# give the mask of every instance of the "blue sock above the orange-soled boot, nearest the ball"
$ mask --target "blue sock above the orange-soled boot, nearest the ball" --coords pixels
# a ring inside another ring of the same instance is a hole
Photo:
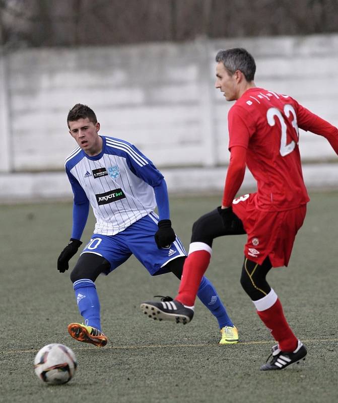
[[[101,330],[100,301],[94,282],[89,279],[77,280],[74,284],[75,298],[85,324]]]

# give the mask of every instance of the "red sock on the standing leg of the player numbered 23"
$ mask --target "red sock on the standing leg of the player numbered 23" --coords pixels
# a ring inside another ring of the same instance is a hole
[[[257,311],[258,316],[265,326],[271,331],[278,347],[282,351],[294,351],[297,348],[298,339],[293,334],[283,312],[279,299],[273,306],[264,311]]]

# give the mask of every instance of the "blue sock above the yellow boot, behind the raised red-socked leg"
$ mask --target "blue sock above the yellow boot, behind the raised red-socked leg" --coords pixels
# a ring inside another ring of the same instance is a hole
[[[215,287],[205,276],[202,277],[197,296],[201,300],[201,302],[204,303],[204,305],[210,310],[210,312],[214,316],[216,316],[220,329],[222,329],[222,327],[224,326],[234,325],[229,318],[225,306],[218,296]]]

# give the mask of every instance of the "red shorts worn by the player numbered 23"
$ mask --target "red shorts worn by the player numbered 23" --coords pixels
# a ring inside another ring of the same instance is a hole
[[[296,234],[304,222],[306,205],[268,212],[257,210],[255,198],[256,193],[245,194],[232,203],[232,210],[247,233],[244,254],[258,264],[268,256],[273,267],[287,266]]]

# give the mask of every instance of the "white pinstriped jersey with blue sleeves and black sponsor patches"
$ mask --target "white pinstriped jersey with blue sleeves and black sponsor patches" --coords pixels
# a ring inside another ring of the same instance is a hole
[[[132,144],[101,136],[102,151],[90,157],[77,147],[65,160],[74,204],[89,200],[96,224],[94,233],[115,235],[156,208],[154,186],[163,175]],[[88,202],[87,202],[88,203]]]

